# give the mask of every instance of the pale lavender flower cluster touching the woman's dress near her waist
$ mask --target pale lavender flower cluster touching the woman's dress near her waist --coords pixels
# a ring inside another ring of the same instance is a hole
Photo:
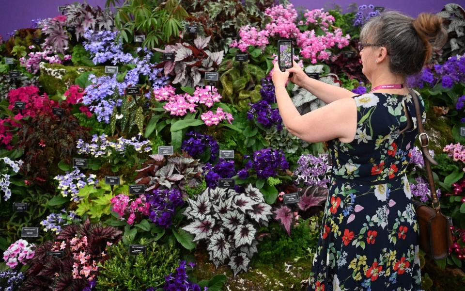
[[[294,175],[297,176],[296,183],[304,182],[309,186],[328,187],[331,175],[328,154],[318,154],[317,157],[310,154],[302,155],[297,163],[299,166],[294,171]]]

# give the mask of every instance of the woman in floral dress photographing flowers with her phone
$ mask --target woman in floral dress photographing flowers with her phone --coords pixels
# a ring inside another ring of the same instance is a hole
[[[386,12],[370,19],[359,50],[373,89],[361,96],[310,79],[295,62],[285,72],[275,64],[284,125],[305,141],[328,141],[332,160],[308,291],[421,289],[418,225],[405,176],[418,130],[405,79],[421,71],[446,37],[442,18],[431,14],[413,19]],[[327,105],[301,116],[285,89],[289,73]]]

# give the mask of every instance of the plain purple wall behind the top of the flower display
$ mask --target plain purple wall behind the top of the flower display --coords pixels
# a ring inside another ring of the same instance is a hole
[[[8,33],[19,28],[31,27],[31,20],[37,18],[54,17],[60,15],[58,6],[72,2],[83,2],[84,0],[1,0],[4,7],[0,9],[0,34],[7,39]],[[8,4],[6,3],[8,2]],[[87,0],[91,5],[105,6],[105,0]],[[310,1],[291,0],[295,7],[306,7],[309,9],[334,7],[340,5],[344,12],[355,0],[332,0],[332,1]],[[358,4],[373,4],[375,6],[386,6],[389,9],[398,10],[410,16],[417,16],[420,12],[439,12],[442,7],[450,2],[464,4],[464,0],[359,0]]]

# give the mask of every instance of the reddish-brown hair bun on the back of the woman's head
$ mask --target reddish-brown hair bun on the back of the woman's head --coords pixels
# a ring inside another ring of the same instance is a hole
[[[420,13],[413,27],[425,46],[424,64],[431,59],[433,49],[441,49],[447,41],[447,32],[442,26],[443,18],[430,13]]]

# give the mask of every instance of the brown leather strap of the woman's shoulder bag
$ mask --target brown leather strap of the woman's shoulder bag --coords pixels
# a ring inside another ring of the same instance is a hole
[[[426,174],[428,175],[428,183],[430,184],[431,189],[431,199],[433,201],[432,205],[436,212],[439,212],[440,204],[439,199],[437,199],[436,186],[434,185],[433,171],[431,170],[431,164],[437,165],[437,162],[434,161],[433,157],[428,151],[429,137],[426,134],[425,129],[423,129],[423,123],[421,119],[421,110],[420,104],[418,101],[418,96],[415,91],[411,88],[408,88],[410,95],[412,96],[413,103],[415,104],[415,113],[417,116],[417,128],[418,128],[418,139],[420,141],[421,152],[423,153],[423,160],[425,161]]]

